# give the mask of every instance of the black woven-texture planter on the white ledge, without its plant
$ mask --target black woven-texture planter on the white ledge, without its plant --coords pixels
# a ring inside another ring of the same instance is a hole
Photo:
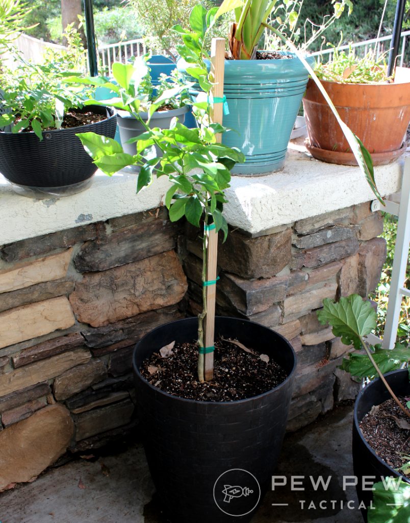
[[[27,187],[64,187],[90,178],[97,170],[76,133],[95,132],[114,138],[116,116],[112,109],[88,106],[107,115],[101,122],[71,129],[33,132],[0,132],[0,173],[13,184]]]

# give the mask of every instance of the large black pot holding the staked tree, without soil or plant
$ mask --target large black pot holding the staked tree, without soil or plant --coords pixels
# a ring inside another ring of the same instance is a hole
[[[144,359],[173,340],[197,339],[197,318],[151,331],[135,346],[134,379],[151,476],[173,523],[250,521],[270,487],[285,434],[296,357],[262,325],[217,317],[215,338],[235,337],[286,370],[275,389],[246,400],[203,402],[162,392],[140,374]],[[228,472],[229,471],[229,472]]]

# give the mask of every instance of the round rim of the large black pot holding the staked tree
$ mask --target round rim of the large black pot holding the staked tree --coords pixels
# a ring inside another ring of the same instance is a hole
[[[279,383],[279,385],[277,385],[274,389],[270,389],[266,392],[263,392],[262,394],[257,394],[256,396],[251,396],[251,397],[247,397],[247,398],[244,398],[242,400],[233,400],[233,401],[201,401],[201,400],[190,400],[188,398],[185,398],[185,397],[180,397],[180,396],[175,396],[174,394],[170,394],[169,392],[165,392],[165,391],[162,391],[160,389],[158,389],[156,386],[152,385],[151,383],[149,383],[145,378],[144,376],[142,376],[142,374],[140,373],[139,369],[137,368],[136,366],[136,363],[135,363],[135,352],[136,352],[136,348],[137,346],[144,340],[144,338],[146,336],[148,336],[151,332],[154,332],[154,331],[158,331],[159,329],[167,326],[167,325],[171,325],[173,323],[179,323],[179,322],[185,322],[185,321],[193,321],[193,320],[197,320],[197,317],[195,316],[191,316],[191,317],[188,317],[188,318],[181,318],[180,320],[174,320],[172,322],[168,322],[168,323],[165,323],[163,325],[159,325],[158,327],[156,327],[155,329],[153,329],[152,331],[149,331],[149,333],[147,333],[145,336],[143,336],[136,344],[135,344],[135,347],[134,347],[134,350],[133,350],[133,357],[132,357],[132,365],[133,365],[133,370],[134,370],[134,374],[136,376],[138,376],[139,380],[142,381],[144,383],[145,386],[148,386],[151,391],[157,393],[157,394],[161,394],[163,396],[167,396],[169,398],[172,398],[172,399],[175,399],[175,400],[179,400],[179,401],[184,401],[184,402],[188,402],[188,403],[197,403],[197,404],[201,404],[201,405],[232,405],[232,404],[240,404],[240,403],[245,403],[245,402],[249,402],[249,401],[253,401],[253,400],[256,400],[256,399],[260,399],[261,397],[263,396],[266,396],[267,394],[271,394],[273,391],[277,391],[279,390],[280,388],[282,388],[283,386],[285,386],[285,384],[291,379],[294,377],[294,374],[295,374],[295,371],[296,371],[296,353],[295,353],[295,349],[290,345],[290,342],[284,337],[282,336],[282,334],[279,334],[278,332],[276,331],[273,331],[273,329],[270,329],[269,327],[266,327],[265,325],[261,325],[260,323],[256,323],[256,322],[252,322],[252,321],[249,321],[249,320],[243,320],[241,318],[235,318],[235,317],[232,317],[232,316],[215,316],[215,319],[227,319],[227,320],[236,320],[238,322],[247,322],[249,324],[253,324],[253,325],[257,325],[259,327],[262,327],[264,329],[268,329],[272,332],[274,332],[277,336],[279,336],[279,338],[282,338],[285,342],[286,342],[286,345],[288,346],[288,348],[291,350],[291,353],[294,357],[294,365],[292,367],[292,370],[289,372],[288,376],[286,377],[286,379],[282,382],[282,383]]]

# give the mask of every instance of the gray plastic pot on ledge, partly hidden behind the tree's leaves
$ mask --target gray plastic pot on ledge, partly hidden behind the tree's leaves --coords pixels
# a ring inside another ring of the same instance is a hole
[[[154,112],[149,122],[149,127],[159,127],[160,129],[169,129],[172,118],[177,117],[180,123],[184,123],[185,114],[189,111],[188,106],[179,107],[178,109],[172,109],[169,111],[156,111]],[[140,117],[144,120],[148,120],[147,112],[140,112]],[[120,129],[120,137],[122,147],[125,153],[136,154],[137,145],[136,143],[126,143],[131,138],[136,138],[139,134],[145,132],[145,128],[141,122],[130,115],[127,111],[118,111],[117,123]],[[160,155],[160,151],[157,148],[157,153]]]

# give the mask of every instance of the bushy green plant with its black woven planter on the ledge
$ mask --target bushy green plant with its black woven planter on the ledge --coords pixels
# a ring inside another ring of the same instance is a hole
[[[0,172],[24,195],[64,196],[88,187],[97,168],[76,134],[115,133],[114,111],[85,108],[90,91],[64,81],[84,56],[78,33],[69,28],[66,37],[66,53],[50,51],[42,64],[15,53],[14,67],[0,73]]]

